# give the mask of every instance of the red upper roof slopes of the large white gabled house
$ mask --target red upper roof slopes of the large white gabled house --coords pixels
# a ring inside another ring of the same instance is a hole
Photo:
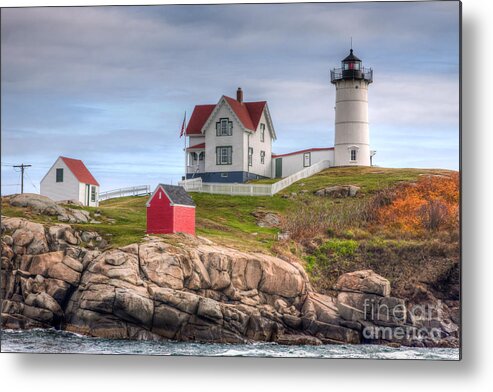
[[[257,129],[266,101],[260,102],[238,102],[236,99],[224,96],[228,105],[233,109],[238,119],[246,129],[255,131]],[[187,135],[200,134],[204,124],[213,112],[216,105],[195,106],[190,122],[187,126]]]

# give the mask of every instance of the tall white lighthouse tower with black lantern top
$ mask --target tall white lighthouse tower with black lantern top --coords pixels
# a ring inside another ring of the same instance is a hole
[[[370,166],[368,86],[373,71],[363,68],[351,49],[341,68],[330,71],[330,80],[336,86],[334,165]]]

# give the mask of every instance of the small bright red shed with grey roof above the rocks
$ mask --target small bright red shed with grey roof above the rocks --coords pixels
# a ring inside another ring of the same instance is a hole
[[[159,184],[147,202],[147,233],[195,235],[195,203],[181,186]]]

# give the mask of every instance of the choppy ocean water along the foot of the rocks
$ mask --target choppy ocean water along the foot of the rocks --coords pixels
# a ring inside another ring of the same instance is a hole
[[[451,348],[391,348],[381,345],[284,346],[274,343],[153,342],[92,338],[55,330],[2,330],[1,351],[210,357],[459,359],[459,349]]]

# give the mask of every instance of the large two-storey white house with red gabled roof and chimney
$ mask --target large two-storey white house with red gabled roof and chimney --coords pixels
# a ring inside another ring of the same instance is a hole
[[[195,106],[187,125],[187,178],[204,182],[245,182],[272,175],[276,139],[267,102],[222,96],[217,104]]]

